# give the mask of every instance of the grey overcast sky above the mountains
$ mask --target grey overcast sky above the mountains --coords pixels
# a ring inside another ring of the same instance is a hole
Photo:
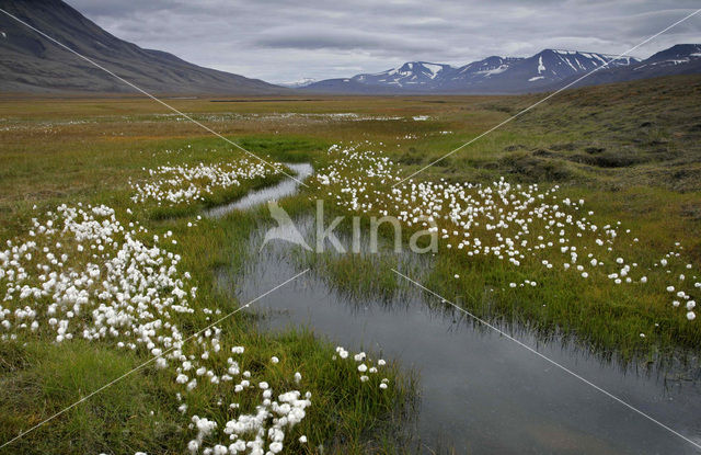
[[[619,55],[700,8],[699,0],[433,1],[68,0],[141,47],[271,82],[464,65],[543,48]],[[701,13],[636,49],[701,43]]]

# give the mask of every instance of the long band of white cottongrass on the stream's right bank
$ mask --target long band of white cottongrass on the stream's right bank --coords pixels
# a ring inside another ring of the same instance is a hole
[[[541,189],[503,178],[489,185],[445,179],[403,182],[400,169],[381,152],[361,148],[367,146],[331,146],[330,166],[314,177],[322,194],[352,212],[395,217],[406,227],[434,232],[443,248],[467,257],[493,258],[515,269],[529,261],[544,270],[575,272],[581,280],[606,278],[613,286],[650,285],[646,271],[658,269],[662,273],[656,282],[673,280],[667,291],[677,289],[678,299],[693,302],[701,288],[696,275],[687,280],[683,273],[674,272],[694,269],[683,261],[679,243],[648,268],[628,261],[622,253],[639,242],[630,229],[623,229],[621,221],[594,223],[594,212],[585,208],[585,201],[559,196],[558,185]],[[453,277],[460,280],[458,274]],[[524,284],[510,283],[509,287]],[[694,320],[693,305],[685,308],[687,320]]]

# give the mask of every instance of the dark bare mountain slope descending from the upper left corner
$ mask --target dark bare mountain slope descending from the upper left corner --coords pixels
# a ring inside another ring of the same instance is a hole
[[[267,94],[285,89],[143,49],[102,30],[60,0],[0,0],[0,8],[134,84],[159,93]],[[2,91],[133,92],[134,89],[0,13]]]

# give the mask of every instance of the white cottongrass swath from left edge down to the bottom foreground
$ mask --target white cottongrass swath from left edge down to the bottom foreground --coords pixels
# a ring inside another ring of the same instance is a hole
[[[281,453],[286,435],[304,419],[311,394],[292,388],[276,395],[264,377],[242,367],[245,346],[226,345],[217,326],[188,340],[183,322],[193,327],[196,311],[221,311],[195,309],[197,288],[180,269],[181,257],[161,246],[174,243],[172,236],[151,235],[104,205],[61,205],[42,220],[32,219],[28,239],[8,240],[0,250],[0,340],[48,335],[54,343],[66,343],[83,338],[148,353],[180,388],[177,411],[194,434],[185,447],[189,453]],[[230,354],[222,362],[225,353]],[[269,357],[272,367],[279,363],[278,356]],[[290,379],[302,384],[299,372]],[[221,428],[192,413],[200,389],[235,397],[217,400],[230,416]],[[243,402],[252,401],[257,403],[251,412],[241,411]],[[298,441],[307,443],[307,436]]]

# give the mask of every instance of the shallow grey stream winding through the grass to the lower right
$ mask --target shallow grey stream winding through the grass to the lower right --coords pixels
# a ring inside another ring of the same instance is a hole
[[[311,167],[295,170],[303,178]],[[228,209],[292,194],[297,185],[284,181]],[[296,220],[306,239],[312,238],[312,221],[311,216]],[[218,277],[221,286],[237,289],[241,302],[306,268],[299,247],[275,240],[261,250],[267,227],[252,235],[243,275]],[[404,254],[402,261],[411,266],[425,259]],[[449,448],[475,454],[700,453],[583,380],[437,303],[418,292],[389,300],[354,297],[308,273],[256,302],[255,311],[266,314],[261,321],[265,330],[304,326],[346,349],[381,353],[403,368],[413,368],[421,398],[409,431],[426,453]],[[699,380],[623,369],[572,343],[543,342],[526,329],[510,330],[543,355],[701,444]]]

